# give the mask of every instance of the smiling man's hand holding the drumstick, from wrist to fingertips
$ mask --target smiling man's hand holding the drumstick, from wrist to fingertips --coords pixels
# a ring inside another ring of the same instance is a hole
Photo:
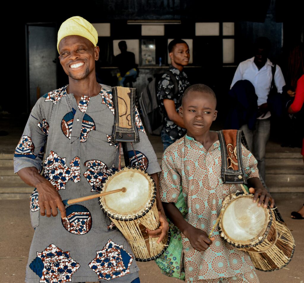
[[[58,191],[54,186],[46,179],[36,184],[38,191],[38,204],[40,206],[40,214],[45,215],[47,211],[47,217],[52,215],[55,217],[58,214],[57,207],[60,210],[61,218],[66,217],[66,211],[62,199]]]

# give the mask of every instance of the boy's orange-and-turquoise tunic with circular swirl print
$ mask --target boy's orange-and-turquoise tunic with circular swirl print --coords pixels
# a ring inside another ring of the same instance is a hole
[[[257,161],[242,146],[243,166],[248,178],[258,177]],[[219,141],[209,150],[193,138],[185,137],[170,145],[162,159],[160,177],[161,199],[176,202],[182,186],[188,207],[186,221],[209,235],[222,208],[222,201],[238,190],[238,185],[223,184],[221,179],[221,149]],[[213,232],[215,240],[204,252],[192,248],[182,235],[186,281],[228,278],[236,274],[248,282],[257,282],[248,253],[237,250]],[[247,282],[245,281],[245,282]]]

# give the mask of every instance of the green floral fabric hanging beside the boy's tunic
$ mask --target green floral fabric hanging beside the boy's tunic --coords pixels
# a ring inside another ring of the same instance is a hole
[[[175,206],[185,218],[188,209],[184,200],[183,193],[178,196]],[[164,254],[157,258],[156,264],[161,269],[161,273],[169,277],[175,277],[185,281],[185,269],[183,262],[183,243],[181,239],[181,231],[168,219],[169,229],[171,231],[171,240]]]

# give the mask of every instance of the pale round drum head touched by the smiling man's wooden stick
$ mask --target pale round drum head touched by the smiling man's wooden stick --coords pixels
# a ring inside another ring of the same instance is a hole
[[[154,183],[144,172],[124,168],[108,178],[103,192],[126,188],[126,192],[109,194],[100,198],[100,204],[111,215],[132,218],[151,206],[154,195]]]

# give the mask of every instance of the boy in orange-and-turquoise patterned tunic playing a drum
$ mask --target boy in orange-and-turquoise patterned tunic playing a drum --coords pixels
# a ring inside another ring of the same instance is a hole
[[[209,131],[216,119],[216,96],[208,86],[186,89],[179,115],[187,134],[164,152],[160,177],[161,198],[166,215],[182,232],[186,282],[259,282],[248,253],[224,242],[218,228],[208,239],[222,201],[239,187],[221,180],[221,149],[216,132]],[[242,146],[243,166],[254,202],[264,207],[270,199],[258,179],[257,161]],[[186,220],[175,207],[182,186],[188,207]],[[252,189],[251,189],[252,190]],[[274,201],[271,200],[271,207]]]

